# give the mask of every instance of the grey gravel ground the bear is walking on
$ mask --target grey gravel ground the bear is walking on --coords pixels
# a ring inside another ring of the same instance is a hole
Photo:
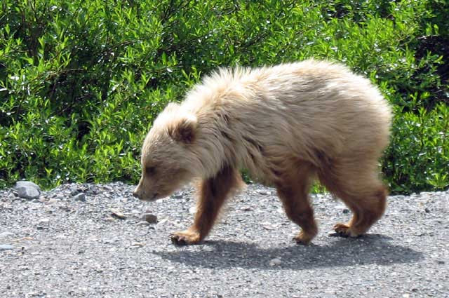
[[[356,239],[330,231],[351,217],[344,205],[313,196],[320,233],[303,246],[274,189],[250,185],[205,243],[175,247],[192,189],[156,203],[132,189],[65,184],[33,201],[0,191],[0,297],[449,297],[449,191],[391,196]],[[141,222],[145,212],[159,222]]]

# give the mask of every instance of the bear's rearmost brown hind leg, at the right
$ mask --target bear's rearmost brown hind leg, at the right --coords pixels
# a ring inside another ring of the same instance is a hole
[[[384,214],[387,189],[377,177],[377,165],[363,162],[334,164],[321,169],[319,180],[353,212],[347,224],[335,224],[341,236],[357,237],[365,233]]]

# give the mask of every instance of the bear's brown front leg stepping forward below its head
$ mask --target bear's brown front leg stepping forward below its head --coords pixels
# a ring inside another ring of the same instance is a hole
[[[176,245],[195,244],[206,238],[223,203],[243,185],[239,171],[228,167],[223,168],[215,177],[201,181],[197,187],[199,198],[194,224],[185,231],[173,233],[172,242]]]

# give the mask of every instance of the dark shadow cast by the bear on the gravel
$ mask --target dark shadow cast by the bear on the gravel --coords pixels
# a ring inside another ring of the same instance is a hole
[[[170,262],[189,266],[274,270],[370,264],[385,266],[418,262],[423,258],[422,252],[401,245],[391,245],[388,242],[390,239],[368,234],[356,239],[338,238],[324,246],[291,245],[286,248],[260,248],[251,243],[206,241],[202,245],[181,247],[175,252],[153,253]],[[280,262],[276,260],[273,264],[273,259],[279,259]]]

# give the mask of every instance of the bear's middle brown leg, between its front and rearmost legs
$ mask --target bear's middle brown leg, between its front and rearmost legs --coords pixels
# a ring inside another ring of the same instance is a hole
[[[288,218],[302,228],[293,239],[306,245],[318,233],[314,210],[309,203],[311,177],[314,177],[314,168],[311,165],[300,165],[283,173],[282,180],[276,183],[278,196]]]

